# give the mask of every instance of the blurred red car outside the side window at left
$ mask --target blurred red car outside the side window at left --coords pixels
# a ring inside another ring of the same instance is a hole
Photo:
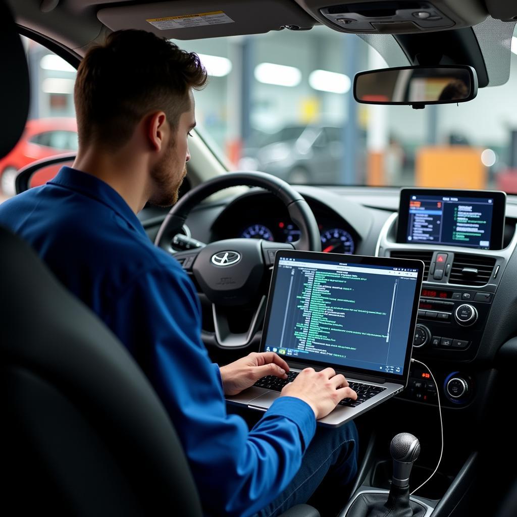
[[[0,186],[6,195],[14,195],[18,171],[41,158],[75,151],[78,147],[77,121],[72,117],[36,118],[28,120],[22,138],[12,151],[0,160]],[[31,179],[31,187],[52,179],[60,164],[45,167]]]

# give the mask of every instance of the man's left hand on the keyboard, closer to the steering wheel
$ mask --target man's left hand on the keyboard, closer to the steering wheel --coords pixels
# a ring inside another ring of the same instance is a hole
[[[219,371],[223,379],[224,394],[236,395],[253,386],[258,379],[266,375],[287,378],[286,372],[289,371],[289,367],[279,355],[273,352],[261,354],[252,352],[242,359],[222,366]]]

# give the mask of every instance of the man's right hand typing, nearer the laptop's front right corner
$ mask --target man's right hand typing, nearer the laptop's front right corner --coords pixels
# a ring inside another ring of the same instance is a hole
[[[313,368],[302,370],[292,383],[284,386],[280,396],[296,397],[307,402],[316,420],[326,417],[341,400],[357,399],[357,393],[348,387],[345,377],[336,375],[332,368],[325,368],[321,372]]]

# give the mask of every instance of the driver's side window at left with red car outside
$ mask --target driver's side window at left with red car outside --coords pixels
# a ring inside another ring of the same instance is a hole
[[[31,105],[18,145],[0,159],[0,202],[14,194],[18,171],[26,165],[78,148],[73,105],[75,69],[35,41],[22,37],[31,75]],[[53,178],[60,164],[45,168],[31,186]]]

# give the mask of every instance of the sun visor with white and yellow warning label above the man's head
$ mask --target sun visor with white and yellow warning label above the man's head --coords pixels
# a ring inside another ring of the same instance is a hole
[[[315,20],[290,0],[179,0],[143,5],[118,5],[97,12],[113,31],[143,29],[167,39],[201,39],[311,28]]]

